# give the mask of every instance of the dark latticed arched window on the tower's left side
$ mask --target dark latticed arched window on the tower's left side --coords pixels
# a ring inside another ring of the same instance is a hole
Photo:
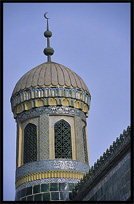
[[[37,127],[29,123],[24,129],[23,163],[37,161]]]

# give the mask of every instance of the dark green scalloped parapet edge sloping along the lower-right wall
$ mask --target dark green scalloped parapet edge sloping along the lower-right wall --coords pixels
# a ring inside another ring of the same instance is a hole
[[[82,190],[83,186],[91,183],[102,170],[105,172],[105,167],[109,165],[109,168],[112,169],[112,166],[110,166],[110,162],[113,160],[113,158],[116,157],[117,154],[125,149],[127,144],[130,143],[130,137],[131,127],[128,126],[127,130],[124,130],[123,134],[120,134],[120,136],[116,138],[116,141],[114,141],[113,144],[110,145],[110,147],[106,150],[106,152],[104,152],[103,155],[100,156],[99,159],[97,159],[94,165],[89,169],[89,172],[75,186],[72,194],[70,194],[70,200],[73,200],[76,195],[78,195],[78,193]]]

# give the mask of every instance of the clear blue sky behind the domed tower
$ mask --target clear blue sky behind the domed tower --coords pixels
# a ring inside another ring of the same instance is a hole
[[[10,97],[30,69],[52,61],[75,71],[91,93],[87,119],[90,165],[130,125],[130,3],[4,3],[3,196],[15,199],[16,123]]]

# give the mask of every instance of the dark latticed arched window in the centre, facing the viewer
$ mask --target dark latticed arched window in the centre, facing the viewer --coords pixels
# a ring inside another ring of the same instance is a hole
[[[65,120],[54,125],[55,158],[72,159],[71,127]]]

